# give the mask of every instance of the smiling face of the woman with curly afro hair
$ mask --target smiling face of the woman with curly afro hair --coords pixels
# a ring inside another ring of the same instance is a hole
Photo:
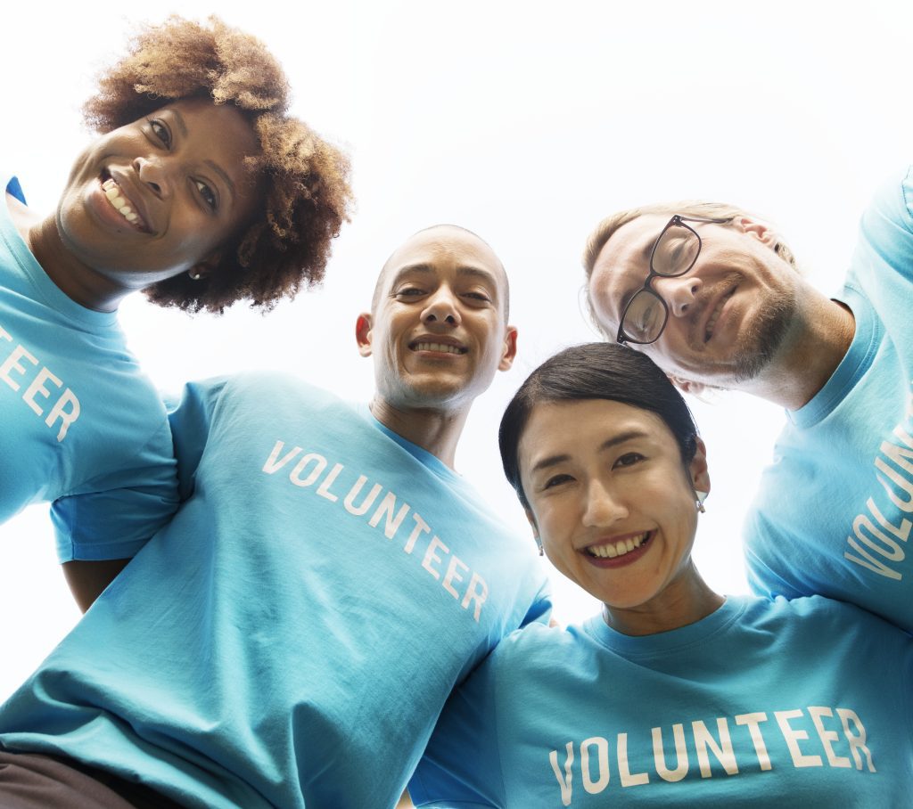
[[[175,101],[80,155],[57,212],[65,251],[127,290],[205,264],[260,194],[244,158],[257,137],[230,106]]]

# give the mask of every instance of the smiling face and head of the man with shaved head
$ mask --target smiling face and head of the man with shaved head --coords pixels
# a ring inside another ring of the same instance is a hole
[[[407,410],[470,404],[516,353],[507,295],[498,257],[477,236],[449,226],[416,233],[385,264],[373,312],[356,327],[378,395]]]

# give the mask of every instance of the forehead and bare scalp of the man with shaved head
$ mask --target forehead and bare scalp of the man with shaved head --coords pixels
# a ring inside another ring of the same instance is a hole
[[[441,226],[415,233],[383,265],[381,285],[388,288],[399,275],[414,269],[447,274],[477,271],[472,275],[479,279],[488,275],[498,293],[506,292],[507,275],[498,256],[477,236],[459,228]]]

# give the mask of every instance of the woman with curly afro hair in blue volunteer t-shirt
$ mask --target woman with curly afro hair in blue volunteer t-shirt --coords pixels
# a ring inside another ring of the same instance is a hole
[[[84,108],[99,137],[56,211],[0,177],[0,522],[54,502],[83,608],[177,506],[165,411],[121,299],[268,309],[320,280],[348,218],[348,161],[288,109],[257,39],[172,17],[100,77]]]

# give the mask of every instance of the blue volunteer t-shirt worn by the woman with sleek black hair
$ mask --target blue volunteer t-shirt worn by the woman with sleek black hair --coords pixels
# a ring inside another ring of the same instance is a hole
[[[913,639],[820,597],[630,637],[501,642],[447,703],[416,806],[873,807],[913,795]]]

